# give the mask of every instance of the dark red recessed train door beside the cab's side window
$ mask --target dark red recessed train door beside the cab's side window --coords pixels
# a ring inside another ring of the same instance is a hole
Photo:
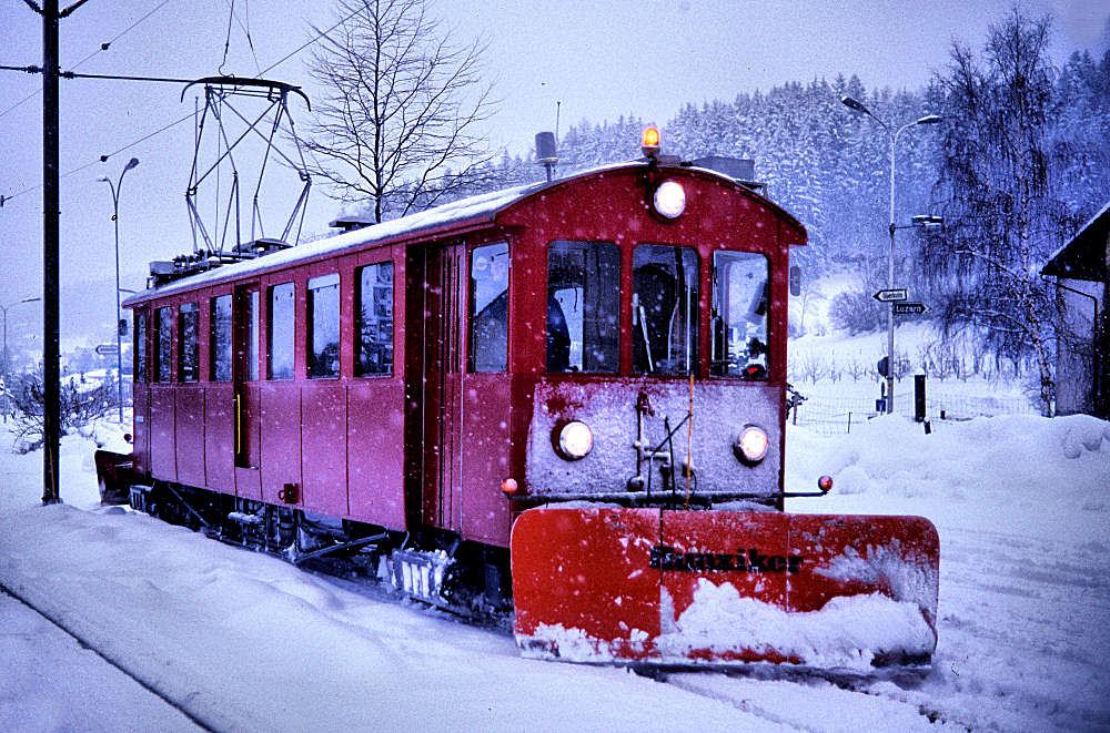
[[[462,245],[422,247],[412,257],[411,293],[421,298],[416,348],[407,349],[406,373],[417,377],[410,394],[420,396],[418,444],[411,449],[421,457],[421,521],[460,530],[462,450],[463,314],[465,248]]]

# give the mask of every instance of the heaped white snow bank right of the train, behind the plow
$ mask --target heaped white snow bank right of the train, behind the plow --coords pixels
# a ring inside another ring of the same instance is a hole
[[[1106,537],[1110,423],[1086,415],[1008,415],[952,423],[889,415],[850,435],[787,431],[786,486],[834,478],[833,493],[798,499],[803,512],[914,513],[947,527],[1039,538]]]

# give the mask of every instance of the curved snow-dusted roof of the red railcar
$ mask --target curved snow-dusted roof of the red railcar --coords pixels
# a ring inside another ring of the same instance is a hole
[[[574,181],[578,181],[585,177],[595,176],[598,174],[604,174],[610,171],[620,171],[628,169],[642,169],[646,167],[648,163],[646,161],[634,161],[629,163],[618,163],[605,165],[596,169],[591,169],[588,171],[583,171],[576,173],[572,176],[564,179],[556,179],[554,181],[543,181],[539,183],[531,183],[521,186],[514,186],[512,189],[503,189],[501,191],[495,191],[492,193],[478,194],[476,196],[470,196],[467,198],[461,198],[442,206],[436,206],[435,208],[428,208],[427,211],[418,212],[416,214],[410,214],[408,216],[403,216],[401,218],[395,218],[389,222],[382,222],[380,224],[372,224],[360,228],[354,228],[334,236],[325,237],[322,240],[316,240],[314,242],[307,242],[304,244],[299,244],[293,247],[281,250],[272,254],[266,254],[264,256],[255,257],[253,259],[246,259],[236,262],[234,264],[226,264],[223,266],[215,266],[211,269],[198,273],[195,275],[188,275],[175,279],[172,283],[162,285],[160,287],[148,288],[141,293],[137,293],[123,302],[123,306],[132,306],[144,301],[149,301],[162,295],[169,295],[173,293],[190,291],[196,287],[214,285],[230,279],[236,279],[240,277],[249,276],[252,274],[261,274],[263,272],[269,272],[272,269],[280,269],[282,267],[319,257],[321,255],[339,254],[346,250],[352,250],[355,247],[364,246],[367,244],[373,244],[376,242],[385,242],[389,240],[395,240],[402,236],[412,236],[418,234],[427,235],[442,235],[453,232],[465,232],[474,228],[480,228],[482,226],[490,225],[494,222],[497,214],[503,212],[505,208],[516,204],[529,196],[554,187],[562,186]],[[668,166],[669,167],[669,166]],[[759,198],[771,208],[774,208],[779,215],[794,222],[797,227],[805,231],[805,227],[798,223],[798,221],[791,216],[784,208],[771,202],[770,200],[755,193],[750,189],[743,185],[743,182],[737,181],[730,176],[724,175],[717,171],[692,166],[684,164],[680,170],[684,171],[696,171],[702,174],[709,174],[714,177],[737,184],[740,190],[748,192],[750,195]]]

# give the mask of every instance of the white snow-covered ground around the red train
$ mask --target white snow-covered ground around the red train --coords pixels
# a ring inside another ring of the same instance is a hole
[[[65,503],[41,507],[41,454],[0,446],[0,583],[215,730],[1110,730],[1110,424],[1093,418],[790,429],[787,485],[836,488],[789,509],[940,531],[932,671],[840,686],[524,660],[504,632],[102,508],[92,449],[63,440]],[[0,594],[0,729],[193,727]]]

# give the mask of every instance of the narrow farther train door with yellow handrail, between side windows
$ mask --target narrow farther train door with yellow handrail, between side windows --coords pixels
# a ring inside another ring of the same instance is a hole
[[[235,400],[235,491],[248,499],[262,498],[259,446],[259,337],[260,288],[258,283],[235,288],[234,359],[232,380]]]

